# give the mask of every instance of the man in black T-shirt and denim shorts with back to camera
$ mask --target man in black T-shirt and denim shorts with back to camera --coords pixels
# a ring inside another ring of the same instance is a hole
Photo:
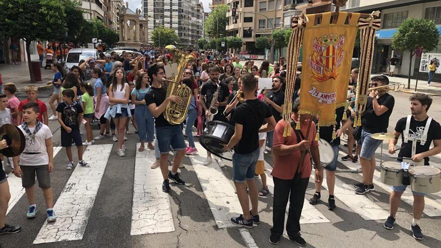
[[[253,223],[260,223],[257,210],[258,189],[254,178],[260,150],[259,132],[271,131],[276,126],[268,105],[257,99],[255,95],[257,86],[257,80],[251,73],[242,76],[242,88],[246,101],[236,107],[233,115],[235,132],[230,142],[224,144],[227,151],[236,147],[233,155],[233,181],[243,211],[239,217],[231,218],[231,222],[248,228],[252,228]],[[267,124],[262,125],[264,121]]]

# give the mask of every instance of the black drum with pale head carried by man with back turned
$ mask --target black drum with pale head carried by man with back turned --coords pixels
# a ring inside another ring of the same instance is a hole
[[[206,124],[199,138],[199,143],[213,155],[232,161],[234,152],[224,152],[223,144],[228,144],[233,134],[234,127],[232,125],[222,121],[210,121]]]

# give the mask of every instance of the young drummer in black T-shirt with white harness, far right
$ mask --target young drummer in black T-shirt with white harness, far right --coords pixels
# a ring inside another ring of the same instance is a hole
[[[438,122],[427,116],[427,111],[432,104],[432,99],[422,93],[416,93],[409,98],[410,112],[412,115],[403,117],[396,123],[393,135],[395,138],[389,140],[389,153],[395,153],[395,144],[401,136],[402,144],[398,153],[398,159],[411,158],[415,165],[429,165],[429,157],[441,152],[441,126]],[[433,141],[434,147],[430,149]],[[383,227],[393,229],[395,223],[395,215],[401,201],[401,195],[407,185],[392,186],[390,194],[390,216],[384,222]],[[413,220],[412,220],[412,236],[415,239],[423,238],[419,220],[424,209],[424,193],[413,193]]]

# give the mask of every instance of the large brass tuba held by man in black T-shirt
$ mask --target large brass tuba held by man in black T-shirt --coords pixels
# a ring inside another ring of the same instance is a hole
[[[178,63],[178,66],[177,73],[174,76],[174,79],[162,79],[162,82],[168,82],[166,98],[174,95],[182,98],[182,102],[168,103],[165,107],[164,118],[170,124],[178,125],[184,122],[185,117],[187,116],[188,107],[190,106],[191,97],[193,96],[193,92],[191,91],[191,89],[185,84],[181,83],[183,72],[187,64],[195,61],[195,59],[192,55],[179,51],[177,49],[171,49],[169,50],[169,52],[172,55],[171,63]]]

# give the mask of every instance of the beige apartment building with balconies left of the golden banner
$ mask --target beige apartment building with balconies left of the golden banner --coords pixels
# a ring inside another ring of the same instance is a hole
[[[243,51],[263,54],[264,51],[256,49],[256,38],[271,36],[273,30],[283,27],[283,3],[283,0],[226,0],[230,10],[237,9],[236,17],[232,17],[231,11],[227,13],[227,36],[241,37]]]

